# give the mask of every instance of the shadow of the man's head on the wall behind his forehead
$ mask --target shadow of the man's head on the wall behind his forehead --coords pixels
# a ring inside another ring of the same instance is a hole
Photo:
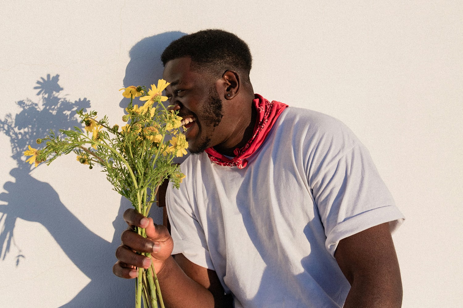
[[[124,87],[130,85],[145,85],[157,83],[161,79],[164,66],[161,54],[170,42],[186,35],[180,31],[164,32],[155,36],[145,37],[136,43],[129,51],[130,61],[125,68]],[[128,99],[122,99],[121,108],[127,107]]]

